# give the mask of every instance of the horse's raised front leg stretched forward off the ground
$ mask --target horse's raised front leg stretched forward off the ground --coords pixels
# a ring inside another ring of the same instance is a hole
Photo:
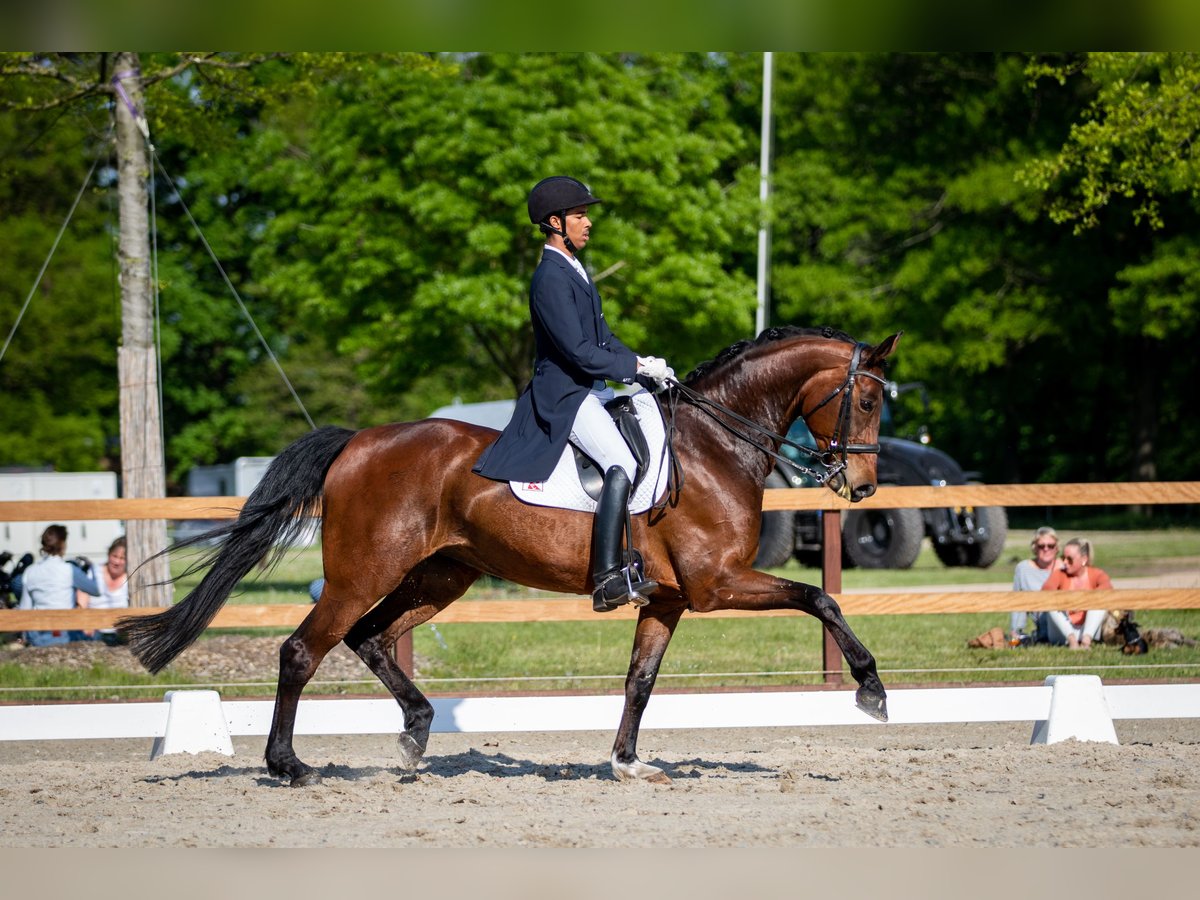
[[[858,682],[854,701],[858,708],[878,719],[888,720],[887,691],[875,667],[875,656],[863,646],[845,617],[838,601],[821,588],[746,569],[722,577],[703,589],[689,590],[696,612],[714,610],[799,610],[816,617],[833,635],[850,673]]]

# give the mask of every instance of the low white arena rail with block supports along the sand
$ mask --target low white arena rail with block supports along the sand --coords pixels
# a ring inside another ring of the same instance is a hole
[[[612,696],[433,700],[434,732],[612,731],[624,698]],[[224,701],[216,691],[168,691],[152,703],[0,707],[0,740],[152,738],[151,755],[232,754],[230,736],[266,734],[272,701]],[[1033,743],[1116,743],[1114,719],[1200,718],[1200,684],[1103,685],[1096,676],[1050,676],[1039,686],[899,689],[889,724],[1027,721]],[[656,694],[643,728],[884,725],[854,707],[850,690]],[[391,700],[304,700],[296,734],[403,731]]]

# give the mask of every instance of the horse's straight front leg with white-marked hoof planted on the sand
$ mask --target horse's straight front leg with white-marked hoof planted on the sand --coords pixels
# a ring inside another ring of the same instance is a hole
[[[629,661],[629,674],[625,676],[625,708],[612,745],[612,774],[622,781],[641,780],[668,785],[671,779],[662,769],[637,758],[637,732],[642,714],[650,701],[667,644],[671,643],[671,636],[684,611],[683,605],[667,610],[658,606],[643,606],[637,617],[634,653]]]

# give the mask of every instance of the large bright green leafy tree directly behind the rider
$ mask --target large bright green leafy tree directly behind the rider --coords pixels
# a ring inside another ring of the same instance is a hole
[[[523,388],[540,245],[524,198],[547,172],[606,200],[588,264],[623,340],[683,367],[748,334],[752,289],[732,260],[754,246],[754,148],[725,115],[719,64],[437,62],[332,79],[322,115],[280,110],[239,173],[259,210],[242,226],[259,235],[256,280],[361,359],[374,394],[432,377],[478,398]],[[416,414],[449,397],[433,400]]]

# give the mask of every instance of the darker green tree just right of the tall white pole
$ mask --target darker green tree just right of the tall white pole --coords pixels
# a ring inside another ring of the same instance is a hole
[[[1055,254],[1013,174],[1051,138],[1024,58],[776,56],[776,319],[871,340],[904,329],[935,439],[992,479],[1038,452],[1020,394],[1055,332]],[[1049,101],[1048,101],[1049,103]],[[782,112],[788,110],[788,112]],[[989,439],[980,439],[980,428]]]

